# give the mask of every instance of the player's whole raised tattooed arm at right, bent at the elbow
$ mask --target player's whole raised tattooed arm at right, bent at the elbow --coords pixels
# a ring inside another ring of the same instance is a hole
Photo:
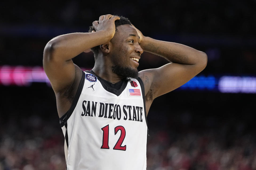
[[[135,29],[140,36],[140,45],[144,51],[170,61],[157,69],[139,72],[139,77],[145,85],[149,107],[156,97],[182,86],[206,67],[207,55],[204,52],[186,45],[144,37],[137,28]]]

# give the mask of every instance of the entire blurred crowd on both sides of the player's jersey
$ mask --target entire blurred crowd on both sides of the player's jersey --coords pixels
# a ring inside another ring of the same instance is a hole
[[[176,130],[149,131],[147,170],[256,169],[253,133]],[[36,116],[14,118],[2,122],[0,136],[0,170],[66,168],[64,136],[57,120],[45,121]]]

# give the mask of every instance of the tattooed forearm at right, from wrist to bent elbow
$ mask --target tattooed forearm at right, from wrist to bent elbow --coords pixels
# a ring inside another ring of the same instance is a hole
[[[164,57],[170,62],[188,65],[205,62],[205,60],[207,62],[205,53],[186,45],[154,40],[150,37],[144,37],[140,45],[144,51]]]

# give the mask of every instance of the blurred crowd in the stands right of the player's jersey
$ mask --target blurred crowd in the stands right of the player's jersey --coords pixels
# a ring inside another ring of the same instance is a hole
[[[147,144],[147,169],[154,170],[253,170],[256,146],[253,134],[233,138],[225,146],[219,131],[203,134],[155,132]],[[228,134],[227,134],[228,135]]]

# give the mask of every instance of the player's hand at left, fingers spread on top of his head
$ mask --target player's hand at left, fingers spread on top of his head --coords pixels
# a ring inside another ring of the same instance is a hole
[[[109,36],[111,40],[115,35],[115,20],[118,19],[120,19],[118,16],[113,16],[110,14],[101,15],[98,21],[93,22],[93,27],[96,31],[106,31],[106,35]]]

